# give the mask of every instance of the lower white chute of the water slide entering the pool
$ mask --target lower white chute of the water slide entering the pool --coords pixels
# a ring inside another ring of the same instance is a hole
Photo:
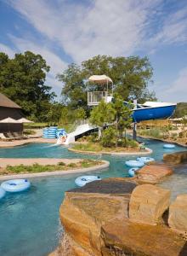
[[[89,124],[78,125],[76,131],[73,131],[67,135],[67,138],[64,144],[68,145],[70,143],[75,143],[77,136],[80,136],[88,131],[92,131],[96,128],[97,127],[94,127],[93,125],[89,125]]]

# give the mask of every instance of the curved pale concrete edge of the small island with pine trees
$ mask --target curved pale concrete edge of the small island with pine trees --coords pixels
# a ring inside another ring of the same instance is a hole
[[[80,153],[80,154],[111,154],[111,155],[147,155],[152,154],[153,150],[150,148],[145,148],[147,150],[146,152],[94,152],[94,151],[84,151],[84,150],[77,150],[73,148],[68,148],[69,151],[72,151],[74,153]]]

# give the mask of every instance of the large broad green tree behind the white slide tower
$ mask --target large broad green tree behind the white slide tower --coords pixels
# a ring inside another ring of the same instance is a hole
[[[97,55],[88,61],[82,61],[78,66],[72,63],[58,79],[64,86],[61,92],[63,102],[71,108],[82,107],[87,109],[87,83],[85,79],[93,74],[106,74],[114,82],[115,91],[122,96],[123,101],[138,99],[144,101],[150,93],[147,85],[153,74],[150,61],[147,57],[111,57]]]

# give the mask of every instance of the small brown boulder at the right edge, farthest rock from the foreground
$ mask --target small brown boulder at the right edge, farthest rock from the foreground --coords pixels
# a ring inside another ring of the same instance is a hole
[[[187,151],[163,154],[163,161],[167,164],[178,165],[187,160]]]

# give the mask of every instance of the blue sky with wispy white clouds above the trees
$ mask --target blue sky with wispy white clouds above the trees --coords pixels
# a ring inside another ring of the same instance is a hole
[[[0,0],[0,51],[26,50],[47,61],[58,96],[71,62],[146,55],[158,100],[187,102],[186,0]]]

